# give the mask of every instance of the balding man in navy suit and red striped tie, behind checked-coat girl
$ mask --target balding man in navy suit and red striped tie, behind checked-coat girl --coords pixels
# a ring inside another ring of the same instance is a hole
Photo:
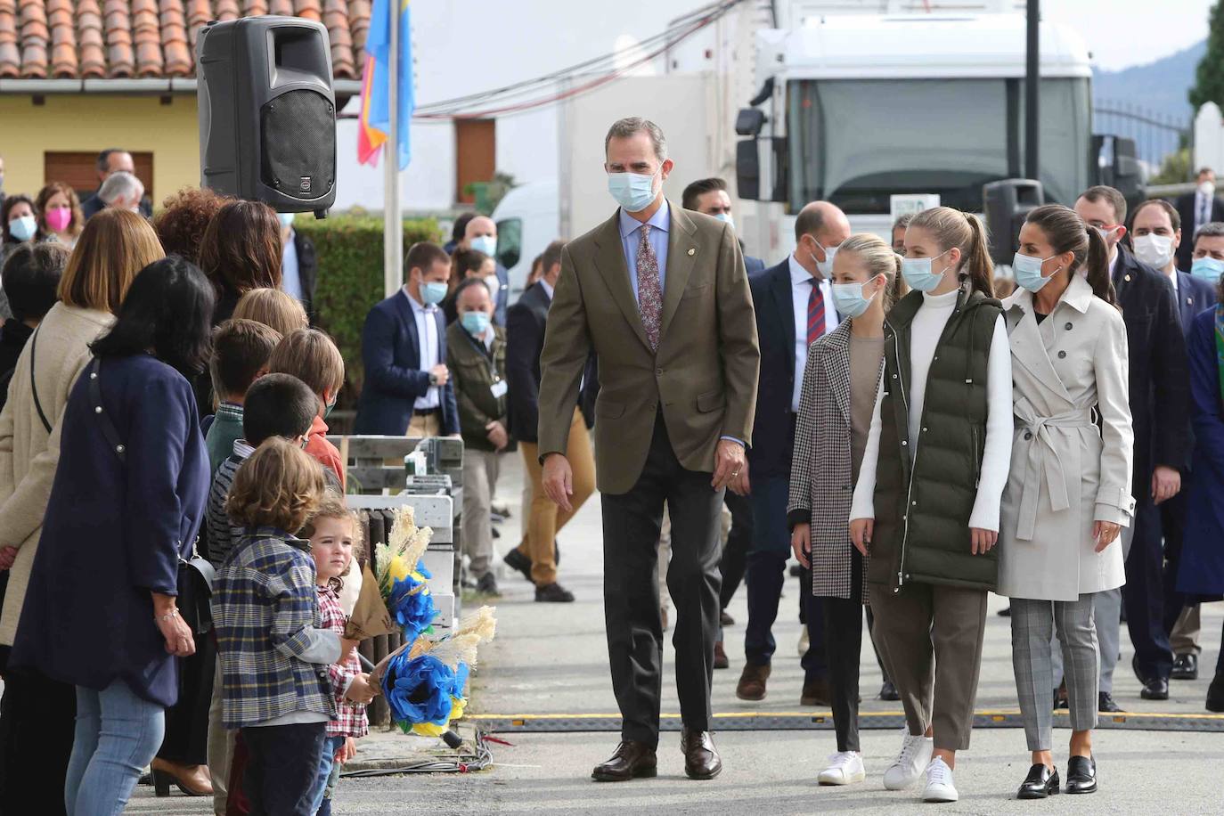
[[[750,488],[753,543],[748,553],[747,663],[736,688],[741,700],[764,700],[776,644],[771,631],[791,557],[786,502],[791,482],[796,414],[808,346],[837,328],[832,297],[834,252],[849,237],[846,214],[827,202],[804,207],[794,223],[796,248],[786,261],[753,275],[761,371],[753,447],[744,484]],[[805,599],[812,597],[810,591]],[[809,647],[803,658],[800,703],[829,700],[829,679],[818,603],[805,603]]]

